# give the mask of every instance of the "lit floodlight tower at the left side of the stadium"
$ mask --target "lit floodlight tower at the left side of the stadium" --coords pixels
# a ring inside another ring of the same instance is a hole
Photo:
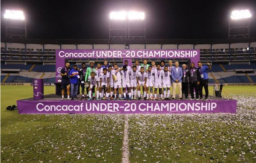
[[[27,38],[26,20],[23,11],[5,10],[5,37]]]

